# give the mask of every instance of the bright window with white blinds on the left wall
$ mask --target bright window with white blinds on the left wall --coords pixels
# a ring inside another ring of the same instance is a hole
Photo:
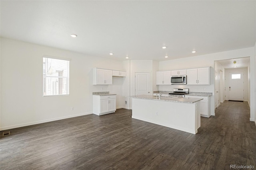
[[[43,57],[43,96],[69,95],[69,61]]]

